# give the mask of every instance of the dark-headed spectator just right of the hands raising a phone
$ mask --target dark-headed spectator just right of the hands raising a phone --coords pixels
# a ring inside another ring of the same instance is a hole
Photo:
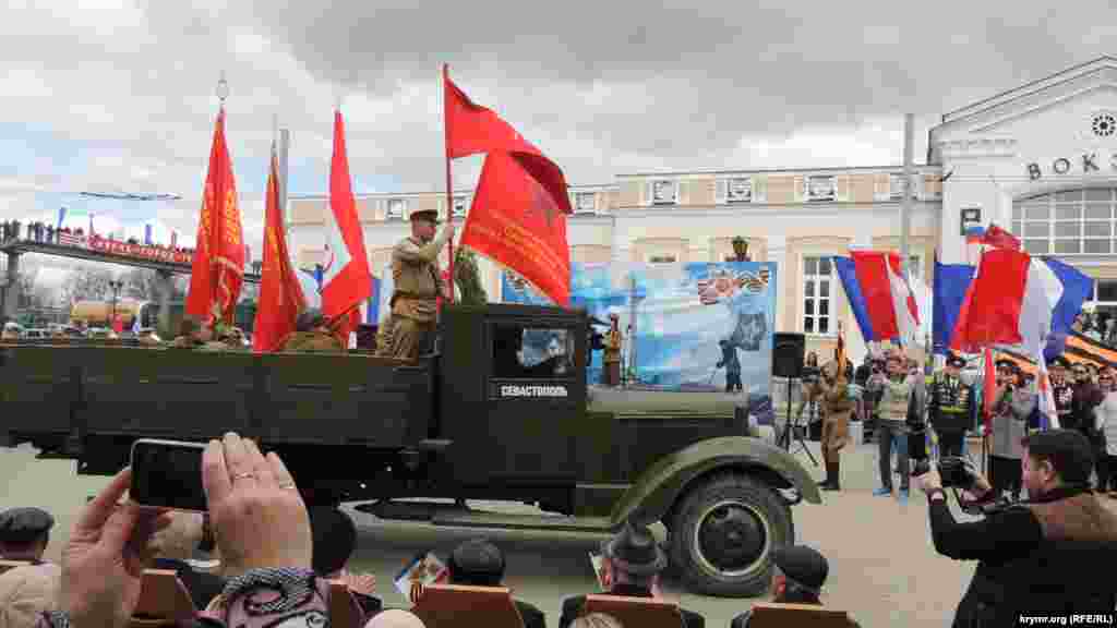
[[[345,563],[356,550],[353,520],[337,508],[314,508],[311,512],[311,533],[314,537],[314,573],[318,578],[345,582],[366,615],[380,612],[383,603],[373,596],[376,579],[371,574],[357,575],[345,570]]]

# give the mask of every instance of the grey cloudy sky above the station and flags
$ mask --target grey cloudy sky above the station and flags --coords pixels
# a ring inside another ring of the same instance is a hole
[[[332,107],[356,191],[441,190],[438,73],[496,108],[572,183],[693,168],[895,164],[903,114],[945,112],[1105,54],[1104,0],[905,2],[175,2],[9,0],[0,9],[0,217],[75,194],[104,228],[193,234],[217,114],[259,250],[273,116],[289,190],[326,189]],[[1047,6],[1044,6],[1047,4]],[[479,160],[456,165],[472,184]],[[192,237],[192,236],[191,236]]]

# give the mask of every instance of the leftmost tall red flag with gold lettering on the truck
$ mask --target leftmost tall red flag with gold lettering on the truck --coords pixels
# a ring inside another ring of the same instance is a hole
[[[211,320],[217,311],[220,320],[232,322],[245,276],[241,232],[237,182],[232,177],[232,161],[225,141],[222,108],[213,130],[209,174],[206,175],[206,190],[202,193],[190,291],[187,293],[187,314]]]

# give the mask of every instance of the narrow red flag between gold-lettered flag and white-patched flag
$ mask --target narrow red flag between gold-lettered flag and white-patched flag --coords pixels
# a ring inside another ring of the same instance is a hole
[[[287,236],[279,209],[279,161],[273,143],[265,209],[264,269],[260,273],[252,351],[276,351],[279,342],[295,331],[295,320],[305,308],[306,297],[287,253]]]

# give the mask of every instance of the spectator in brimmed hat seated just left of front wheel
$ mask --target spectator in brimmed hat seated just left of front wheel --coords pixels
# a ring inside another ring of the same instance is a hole
[[[604,594],[629,598],[658,598],[659,575],[667,568],[667,555],[656,543],[646,525],[628,522],[612,541],[601,548],[601,581]],[[585,596],[566,598],[562,602],[558,628],[569,628],[585,610]],[[697,612],[680,608],[685,628],[701,628],[706,620]]]

